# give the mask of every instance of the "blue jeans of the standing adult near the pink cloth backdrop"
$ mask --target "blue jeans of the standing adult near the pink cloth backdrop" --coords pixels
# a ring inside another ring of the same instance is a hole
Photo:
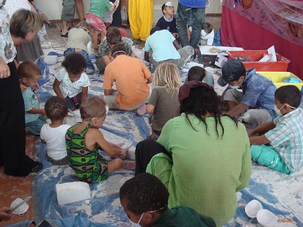
[[[190,40],[187,37],[187,23],[192,22],[192,32]],[[202,23],[205,21],[205,8],[190,8],[178,3],[177,8],[177,28],[182,47],[191,45],[196,48],[202,30]]]

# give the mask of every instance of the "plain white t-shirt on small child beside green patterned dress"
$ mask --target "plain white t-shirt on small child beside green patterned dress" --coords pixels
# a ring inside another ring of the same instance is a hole
[[[65,134],[70,127],[70,125],[61,125],[52,128],[49,124],[44,124],[41,128],[40,138],[46,142],[47,155],[56,161],[67,155]]]

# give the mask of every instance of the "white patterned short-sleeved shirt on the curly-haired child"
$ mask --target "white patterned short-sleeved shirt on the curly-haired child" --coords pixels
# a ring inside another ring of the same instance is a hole
[[[82,73],[79,80],[72,82],[65,68],[62,68],[57,72],[55,77],[61,82],[59,88],[64,98],[67,96],[72,98],[82,91],[82,87],[88,87],[90,85],[89,78],[86,73]]]

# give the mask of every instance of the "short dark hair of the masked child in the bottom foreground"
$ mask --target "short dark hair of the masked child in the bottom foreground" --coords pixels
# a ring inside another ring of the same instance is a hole
[[[126,199],[127,208],[136,215],[146,211],[167,210],[169,193],[154,175],[142,173],[126,181],[120,189],[120,200]]]

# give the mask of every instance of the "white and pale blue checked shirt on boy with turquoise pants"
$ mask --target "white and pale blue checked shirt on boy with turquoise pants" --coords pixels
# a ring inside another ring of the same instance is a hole
[[[292,172],[303,165],[303,112],[297,108],[274,120],[276,127],[265,136],[270,145],[284,159]]]

